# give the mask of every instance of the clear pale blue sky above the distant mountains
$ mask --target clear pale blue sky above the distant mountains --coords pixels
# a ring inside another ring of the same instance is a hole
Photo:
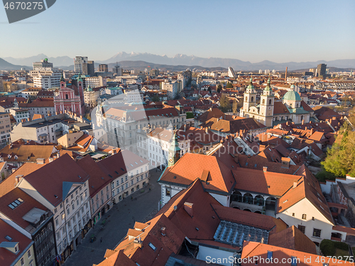
[[[355,58],[355,1],[57,0],[7,23],[0,8],[0,58],[131,51],[274,62]]]

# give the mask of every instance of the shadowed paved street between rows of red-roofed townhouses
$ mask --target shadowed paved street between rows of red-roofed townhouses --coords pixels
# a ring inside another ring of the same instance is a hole
[[[113,250],[124,238],[129,228],[133,228],[135,221],[145,221],[156,213],[160,200],[160,186],[157,181],[162,172],[156,172],[153,169],[150,173],[151,180],[144,193],[139,193],[139,191],[133,193],[133,200],[131,196],[124,198],[105,213],[97,225],[89,230],[82,243],[77,246],[77,250],[66,260],[65,266],[99,264],[104,260],[107,248]],[[104,229],[101,229],[103,220],[106,220],[106,225]],[[96,237],[96,240],[90,243],[92,235]]]

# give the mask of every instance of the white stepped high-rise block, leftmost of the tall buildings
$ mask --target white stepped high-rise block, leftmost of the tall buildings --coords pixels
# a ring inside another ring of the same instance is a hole
[[[62,72],[58,68],[53,68],[53,63],[49,63],[47,58],[40,60],[40,62],[34,62],[33,70],[30,71],[33,86],[43,89],[59,87],[60,75]]]

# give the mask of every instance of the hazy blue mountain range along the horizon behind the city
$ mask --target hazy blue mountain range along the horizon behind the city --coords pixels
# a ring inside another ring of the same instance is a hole
[[[60,56],[56,58],[50,58],[47,55],[39,54],[31,56],[29,58],[11,58],[6,57],[4,60],[13,65],[28,65],[32,66],[33,62],[39,61],[40,59],[48,58],[48,61],[53,63],[56,68],[62,69],[73,69],[73,58],[69,56]],[[90,58],[89,58],[90,59]],[[234,70],[285,70],[288,67],[288,70],[299,70],[299,69],[309,69],[316,68],[318,64],[325,63],[328,67],[334,68],[354,68],[355,69],[355,59],[342,59],[342,60],[332,60],[325,61],[319,60],[317,62],[288,62],[288,63],[275,63],[268,60],[263,60],[259,63],[251,63],[249,61],[242,61],[232,58],[200,58],[194,55],[182,55],[177,54],[172,58],[169,58],[167,55],[153,55],[151,53],[116,53],[107,60],[96,60],[95,66],[99,63],[106,63],[112,67],[116,62],[124,68],[138,68],[138,66],[146,68],[150,65],[152,68],[166,68],[169,70],[183,70],[183,68],[197,68],[197,69],[206,69],[211,68],[228,68],[233,67]],[[134,62],[134,63],[133,63]],[[142,63],[144,62],[144,63]],[[148,65],[146,65],[148,63]],[[162,67],[163,65],[163,67]],[[185,68],[185,69],[186,69]],[[0,63],[0,70],[6,69]],[[31,68],[27,68],[31,69]],[[216,69],[217,70],[217,69]]]

